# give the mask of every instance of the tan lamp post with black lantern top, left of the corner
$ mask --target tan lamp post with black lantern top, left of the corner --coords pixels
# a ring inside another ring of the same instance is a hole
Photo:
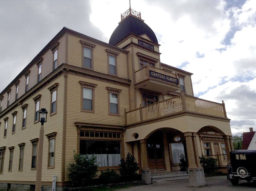
[[[40,128],[39,139],[38,139],[38,155],[37,155],[37,165],[36,165],[36,191],[41,190],[43,146],[44,146],[44,123],[46,122],[46,118],[47,118],[46,109],[45,108],[40,109],[39,119],[41,122],[41,128]]]

